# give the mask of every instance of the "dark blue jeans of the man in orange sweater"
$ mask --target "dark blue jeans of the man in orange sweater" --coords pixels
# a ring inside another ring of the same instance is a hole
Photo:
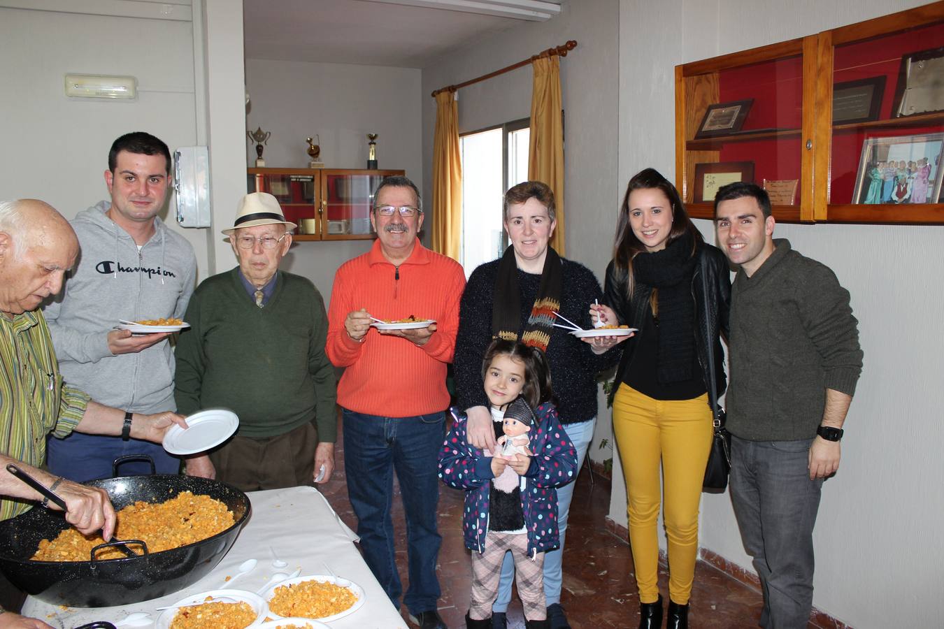
[[[443,538],[436,531],[437,458],[446,437],[443,413],[380,417],[344,409],[347,497],[357,516],[364,561],[399,609],[403,586],[396,571],[394,472],[407,521],[410,588],[403,604],[413,615],[436,609],[440,596],[436,559]]]

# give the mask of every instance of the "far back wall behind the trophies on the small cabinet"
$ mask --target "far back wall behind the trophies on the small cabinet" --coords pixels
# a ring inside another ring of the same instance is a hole
[[[420,71],[341,63],[245,60],[252,105],[246,128],[271,131],[262,157],[272,168],[306,168],[306,138],[320,136],[326,168],[365,168],[367,133],[378,133],[380,168],[405,170],[423,190]],[[431,133],[431,131],[430,131]],[[245,163],[256,144],[244,138]],[[312,279],[325,300],[334,272],[372,240],[298,241],[282,268]]]

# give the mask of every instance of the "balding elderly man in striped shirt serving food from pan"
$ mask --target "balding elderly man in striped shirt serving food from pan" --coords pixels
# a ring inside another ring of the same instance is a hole
[[[144,415],[103,406],[64,386],[39,307],[62,288],[62,277],[77,256],[76,232],[53,207],[35,199],[0,203],[0,467],[13,463],[54,488],[66,503],[66,521],[79,532],[100,529],[111,538],[115,512],[103,489],[39,469],[46,435],[64,437],[77,430],[160,443],[172,424],[187,424],[170,412]],[[0,520],[24,513],[41,499],[39,492],[0,471]],[[0,590],[7,604],[19,598],[8,584],[0,584]],[[0,610],[0,627],[7,626],[48,625]]]

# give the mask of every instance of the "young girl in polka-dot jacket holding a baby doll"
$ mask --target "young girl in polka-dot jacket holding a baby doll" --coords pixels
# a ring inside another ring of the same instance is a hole
[[[577,453],[550,404],[544,353],[496,339],[482,361],[485,394],[496,437],[515,445],[510,455],[490,453],[465,439],[465,415],[452,410],[452,429],[439,454],[439,477],[465,489],[463,531],[472,553],[472,597],[465,626],[490,629],[492,603],[505,553],[512,552],[526,626],[549,627],[544,596],[544,553],[556,548],[557,490],[577,474]]]

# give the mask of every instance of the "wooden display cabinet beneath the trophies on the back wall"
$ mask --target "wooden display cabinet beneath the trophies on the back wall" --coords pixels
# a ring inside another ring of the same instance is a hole
[[[385,176],[403,171],[250,168],[246,187],[269,192],[285,220],[298,225],[294,240],[369,240],[374,190]]]

